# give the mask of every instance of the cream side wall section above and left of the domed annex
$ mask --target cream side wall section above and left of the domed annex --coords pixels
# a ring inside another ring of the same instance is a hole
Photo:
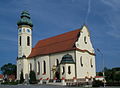
[[[56,59],[59,60],[59,63],[61,62],[62,60],[62,57],[66,54],[70,54],[72,55],[73,57],[73,60],[75,61],[75,58],[74,58],[74,51],[66,51],[66,52],[60,52],[60,53],[55,53],[55,54],[51,54],[50,55],[50,78],[53,79],[53,71],[52,71],[52,68],[54,65],[56,65]]]

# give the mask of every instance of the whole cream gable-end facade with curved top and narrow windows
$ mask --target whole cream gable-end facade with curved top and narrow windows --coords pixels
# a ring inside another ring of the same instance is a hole
[[[85,44],[84,37],[86,37]],[[88,50],[90,53],[94,53],[94,48],[90,40],[90,33],[86,26],[83,26],[80,32],[78,41],[76,42],[76,47],[81,50]],[[83,67],[81,67],[80,57],[82,56]],[[92,59],[93,68],[90,65],[90,59]],[[76,68],[77,68],[77,78],[94,77],[96,75],[95,67],[95,56],[89,54],[88,52],[76,51]]]

